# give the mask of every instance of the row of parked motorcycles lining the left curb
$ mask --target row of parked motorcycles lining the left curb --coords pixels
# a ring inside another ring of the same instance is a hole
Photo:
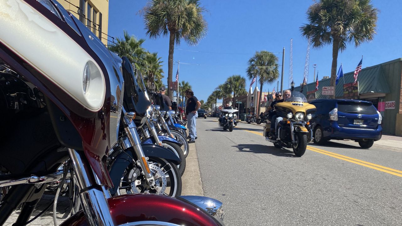
[[[55,0],[0,11],[0,226],[18,208],[13,225],[30,224],[45,192],[55,225],[59,195],[72,207],[63,226],[223,225],[221,202],[180,196],[183,117],[134,62]]]

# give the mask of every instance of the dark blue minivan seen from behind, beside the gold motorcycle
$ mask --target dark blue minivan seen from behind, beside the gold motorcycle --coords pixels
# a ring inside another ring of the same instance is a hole
[[[317,110],[312,118],[314,143],[328,140],[354,140],[370,148],[382,135],[382,116],[371,102],[318,99],[310,102]]]

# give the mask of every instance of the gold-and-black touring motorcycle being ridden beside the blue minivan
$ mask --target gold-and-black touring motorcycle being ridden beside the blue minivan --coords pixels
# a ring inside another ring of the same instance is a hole
[[[277,137],[268,135],[270,126],[267,123],[264,127],[265,139],[273,142],[275,148],[293,148],[295,155],[301,157],[306,152],[307,144],[312,141],[310,119],[316,107],[307,103],[301,92],[293,91],[289,99],[275,105],[275,111],[278,117],[283,117],[277,125]]]

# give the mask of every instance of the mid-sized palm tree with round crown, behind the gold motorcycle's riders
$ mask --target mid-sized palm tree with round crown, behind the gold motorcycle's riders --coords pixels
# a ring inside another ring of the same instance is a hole
[[[269,51],[256,51],[255,55],[248,60],[247,77],[250,79],[258,77],[258,82],[260,83],[260,96],[257,98],[258,101],[260,101],[261,95],[263,94],[263,84],[272,83],[279,77],[278,58]],[[259,115],[260,108],[258,107],[257,117]]]

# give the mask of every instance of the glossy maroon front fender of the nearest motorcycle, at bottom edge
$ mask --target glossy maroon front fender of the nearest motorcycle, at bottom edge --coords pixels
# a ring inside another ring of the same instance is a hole
[[[109,198],[108,203],[116,225],[138,221],[161,221],[185,226],[221,225],[194,205],[163,195],[120,195]],[[88,225],[82,211],[61,224],[61,226],[70,225]]]

